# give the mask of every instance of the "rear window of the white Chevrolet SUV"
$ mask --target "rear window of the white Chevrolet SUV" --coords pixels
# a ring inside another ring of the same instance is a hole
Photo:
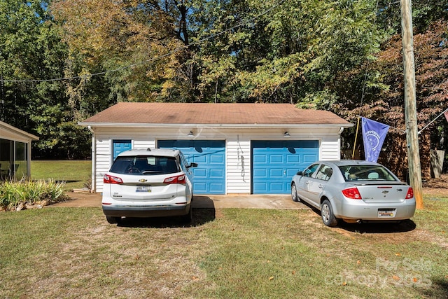
[[[116,158],[111,172],[116,174],[157,175],[179,172],[176,158],[155,156],[123,156]]]

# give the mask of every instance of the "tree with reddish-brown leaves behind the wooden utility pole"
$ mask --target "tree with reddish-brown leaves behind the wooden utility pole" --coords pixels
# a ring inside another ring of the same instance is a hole
[[[416,61],[416,99],[419,123],[419,144],[423,179],[430,176],[429,150],[440,146],[441,132],[447,134],[446,124],[440,119],[423,130],[444,109],[447,109],[448,48],[445,45],[447,21],[437,21],[426,32],[414,35]],[[355,82],[362,73],[353,72],[341,82]],[[384,142],[384,154],[379,162],[390,167],[402,179],[407,177],[407,144],[405,136],[405,117],[403,100],[402,46],[399,34],[384,43],[378,60],[370,64],[367,72],[367,92],[360,103],[356,97],[348,98],[345,104],[339,103],[337,110],[342,116],[356,123],[358,116],[372,118],[391,125]],[[352,85],[346,85],[352,88]],[[342,86],[340,87],[342,90]],[[340,109],[340,110],[339,110]],[[347,137],[354,139],[354,136]],[[431,141],[432,140],[432,141]],[[387,153],[393,153],[387,154]]]

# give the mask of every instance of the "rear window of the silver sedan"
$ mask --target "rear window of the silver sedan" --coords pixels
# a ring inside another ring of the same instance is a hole
[[[388,170],[379,165],[339,166],[346,181],[397,181]]]

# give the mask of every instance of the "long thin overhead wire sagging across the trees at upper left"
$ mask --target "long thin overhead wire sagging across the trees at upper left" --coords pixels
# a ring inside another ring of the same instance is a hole
[[[11,80],[8,80],[8,79],[3,79],[3,77],[2,77],[2,78],[0,78],[0,81],[1,82],[10,82],[10,83],[40,83],[40,82],[66,81],[66,80],[81,79],[81,78],[91,78],[93,76],[101,76],[101,75],[104,75],[104,74],[107,74],[107,73],[111,73],[111,72],[114,72],[114,71],[123,71],[125,69],[130,69],[132,67],[137,67],[138,65],[141,65],[141,64],[147,64],[147,63],[153,62],[155,60],[160,60],[162,58],[168,57],[169,55],[173,55],[174,53],[177,53],[177,52],[179,52],[179,51],[181,51],[183,49],[190,48],[191,46],[195,46],[195,45],[200,44],[200,43],[202,43],[204,41],[208,41],[209,39],[213,39],[216,36],[220,36],[222,34],[225,34],[226,32],[230,32],[230,31],[232,31],[234,29],[237,29],[239,27],[243,27],[244,25],[247,25],[248,23],[253,22],[254,20],[257,20],[258,18],[262,17],[263,15],[267,15],[267,13],[272,11],[274,8],[277,8],[278,6],[283,4],[284,1],[285,0],[279,1],[279,3],[277,3],[274,6],[268,8],[266,11],[263,11],[259,15],[255,15],[255,17],[250,18],[250,19],[246,20],[245,22],[241,22],[238,25],[235,25],[234,27],[230,27],[230,28],[225,29],[225,30],[223,30],[221,32],[218,32],[216,34],[211,34],[210,36],[204,37],[204,39],[200,39],[198,41],[195,41],[194,43],[190,43],[189,45],[175,48],[174,50],[171,50],[171,51],[169,51],[168,53],[166,53],[164,55],[156,56],[156,57],[153,57],[153,58],[151,58],[149,60],[144,60],[144,61],[141,61],[141,62],[130,64],[130,65],[127,65],[125,67],[119,67],[117,69],[109,69],[107,71],[101,71],[101,72],[94,73],[94,74],[80,75],[80,76],[71,76],[71,77],[64,77],[64,78],[32,79],[32,80],[18,80],[18,79],[15,80],[15,79],[11,79]]]

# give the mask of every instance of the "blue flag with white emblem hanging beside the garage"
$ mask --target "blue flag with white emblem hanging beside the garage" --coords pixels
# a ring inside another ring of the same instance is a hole
[[[388,125],[378,123],[377,121],[368,118],[362,119],[363,141],[365,160],[370,162],[377,162],[384,139],[386,139]]]

